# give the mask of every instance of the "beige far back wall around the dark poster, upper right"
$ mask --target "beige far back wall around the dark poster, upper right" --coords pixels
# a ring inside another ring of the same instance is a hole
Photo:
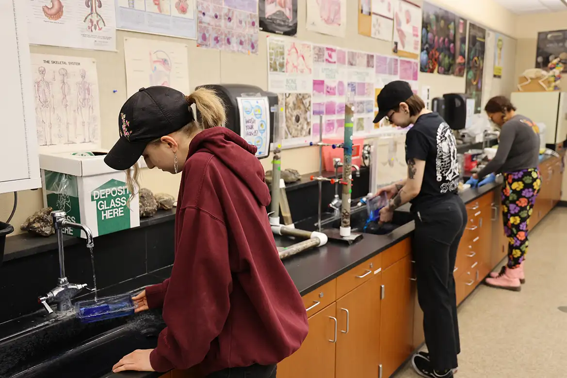
[[[515,35],[518,39],[516,77],[535,67],[538,32],[567,29],[567,12],[540,13],[518,16]],[[567,80],[561,80],[567,91]]]

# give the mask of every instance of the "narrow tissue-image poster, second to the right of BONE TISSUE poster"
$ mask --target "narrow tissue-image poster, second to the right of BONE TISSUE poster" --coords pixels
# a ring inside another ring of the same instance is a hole
[[[374,54],[348,50],[347,97],[354,101],[354,134],[374,129]],[[340,132],[340,131],[337,131]]]

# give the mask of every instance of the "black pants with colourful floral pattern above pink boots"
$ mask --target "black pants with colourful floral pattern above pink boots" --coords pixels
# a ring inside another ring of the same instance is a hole
[[[502,214],[508,237],[508,267],[518,267],[528,250],[528,225],[541,186],[537,168],[504,173]]]

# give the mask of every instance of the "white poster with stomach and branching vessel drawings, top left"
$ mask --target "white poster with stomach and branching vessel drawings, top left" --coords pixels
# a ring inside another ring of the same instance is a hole
[[[114,0],[27,0],[29,43],[116,50]]]

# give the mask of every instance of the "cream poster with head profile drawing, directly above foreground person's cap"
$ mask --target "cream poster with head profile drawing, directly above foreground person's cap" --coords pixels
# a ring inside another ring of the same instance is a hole
[[[124,60],[128,96],[151,86],[172,87],[185,94],[191,91],[185,44],[127,37]]]

